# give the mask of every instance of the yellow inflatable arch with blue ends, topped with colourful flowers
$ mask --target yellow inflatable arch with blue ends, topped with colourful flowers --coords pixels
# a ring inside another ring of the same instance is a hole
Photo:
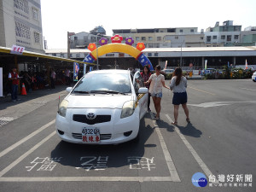
[[[97,57],[99,56],[113,52],[120,52],[131,55],[137,59],[137,61],[139,61],[143,67],[148,65],[150,70],[154,70],[151,62],[148,60],[148,57],[142,52],[142,50],[145,49],[145,45],[143,43],[138,43],[137,47],[135,48],[131,46],[134,44],[134,40],[132,38],[125,38],[125,44],[121,44],[122,40],[122,36],[115,35],[111,38],[112,44],[108,44],[107,38],[101,38],[99,44],[102,46],[97,50],[96,44],[89,44],[88,49],[91,52],[85,56],[84,62],[92,63],[93,61],[96,61]]]

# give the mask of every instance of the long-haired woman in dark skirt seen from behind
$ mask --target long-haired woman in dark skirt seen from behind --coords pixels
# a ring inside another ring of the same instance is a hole
[[[178,108],[181,104],[183,106],[184,113],[189,120],[189,108],[187,107],[188,96],[187,96],[187,79],[183,76],[183,71],[180,67],[177,67],[173,73],[173,77],[170,84],[170,89],[173,90],[172,104],[174,106],[174,119],[172,125],[177,125]]]

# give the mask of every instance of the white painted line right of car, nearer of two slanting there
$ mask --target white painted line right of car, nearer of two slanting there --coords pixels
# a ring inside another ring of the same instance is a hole
[[[164,152],[164,155],[165,155],[165,158],[166,158],[166,164],[167,164],[169,172],[171,174],[172,181],[173,182],[181,182],[181,180],[180,180],[180,178],[179,178],[179,176],[177,174],[176,167],[174,166],[171,154],[169,153],[168,148],[166,146],[166,142],[164,140],[164,137],[162,136],[162,134],[160,132],[159,126],[156,124],[156,122],[154,120],[154,115],[153,115],[152,112],[150,112],[150,115],[151,115],[151,119],[153,120],[154,130],[156,131],[156,133],[157,133],[157,135],[159,137],[160,145],[161,145],[161,147],[163,149],[163,152]]]

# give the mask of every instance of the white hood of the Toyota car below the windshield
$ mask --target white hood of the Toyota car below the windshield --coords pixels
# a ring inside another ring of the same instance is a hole
[[[67,108],[123,108],[131,101],[131,95],[69,95]]]

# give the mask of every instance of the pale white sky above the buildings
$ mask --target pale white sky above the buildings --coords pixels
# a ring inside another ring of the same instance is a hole
[[[198,27],[225,20],[256,26],[255,0],[41,0],[43,36],[48,49],[66,49],[67,32],[112,29]]]

